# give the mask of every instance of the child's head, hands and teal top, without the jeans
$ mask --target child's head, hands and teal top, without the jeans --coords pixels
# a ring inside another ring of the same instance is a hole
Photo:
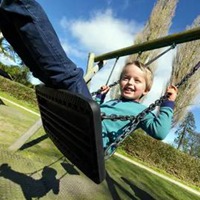
[[[129,115],[136,116],[146,107],[140,104],[140,99],[146,95],[152,86],[153,74],[151,70],[139,61],[127,63],[120,75],[121,98],[110,100],[101,104],[101,111],[107,115]],[[109,91],[108,86],[102,87],[101,96],[98,102],[102,102],[102,97]],[[168,87],[166,91],[169,95],[168,100],[163,102],[158,115],[150,112],[138,124],[137,128],[142,128],[153,138],[164,139],[170,128],[173,117],[174,101],[177,96],[175,86]],[[123,133],[123,128],[129,121],[102,121],[103,146],[109,146],[119,135]]]

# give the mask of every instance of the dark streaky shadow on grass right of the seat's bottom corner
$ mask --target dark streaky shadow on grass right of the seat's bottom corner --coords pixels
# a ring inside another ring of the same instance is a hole
[[[106,182],[108,185],[108,189],[111,193],[112,199],[115,200],[122,200],[123,198],[120,197],[119,195],[119,190],[120,193],[124,193],[128,199],[132,199],[132,200],[138,200],[138,199],[148,199],[148,200],[154,200],[154,198],[149,195],[147,192],[145,192],[144,190],[141,190],[140,188],[138,188],[136,185],[133,184],[133,182],[130,182],[128,179],[121,177],[121,179],[124,181],[124,185],[122,186],[122,184],[118,183],[117,181],[115,181],[109,174],[108,172],[106,172]],[[126,188],[127,185],[132,189],[133,193],[129,192]],[[118,190],[117,190],[118,188]]]

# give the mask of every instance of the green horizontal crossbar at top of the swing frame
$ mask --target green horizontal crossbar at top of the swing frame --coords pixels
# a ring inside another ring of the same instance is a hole
[[[166,37],[158,38],[142,44],[136,44],[122,48],[116,51],[108,52],[94,58],[94,62],[109,60],[116,57],[126,56],[134,53],[158,49],[161,47],[170,46],[172,44],[180,44],[200,39],[200,27],[175,33]]]

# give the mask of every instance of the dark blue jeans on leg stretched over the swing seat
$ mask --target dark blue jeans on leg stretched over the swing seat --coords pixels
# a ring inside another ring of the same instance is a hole
[[[0,30],[33,75],[49,87],[91,98],[83,70],[67,57],[35,0],[0,0]]]

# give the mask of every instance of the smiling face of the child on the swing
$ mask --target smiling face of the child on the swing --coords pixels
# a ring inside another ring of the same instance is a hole
[[[127,65],[120,80],[121,96],[126,99],[139,101],[142,95],[147,94],[145,72],[135,64]]]

